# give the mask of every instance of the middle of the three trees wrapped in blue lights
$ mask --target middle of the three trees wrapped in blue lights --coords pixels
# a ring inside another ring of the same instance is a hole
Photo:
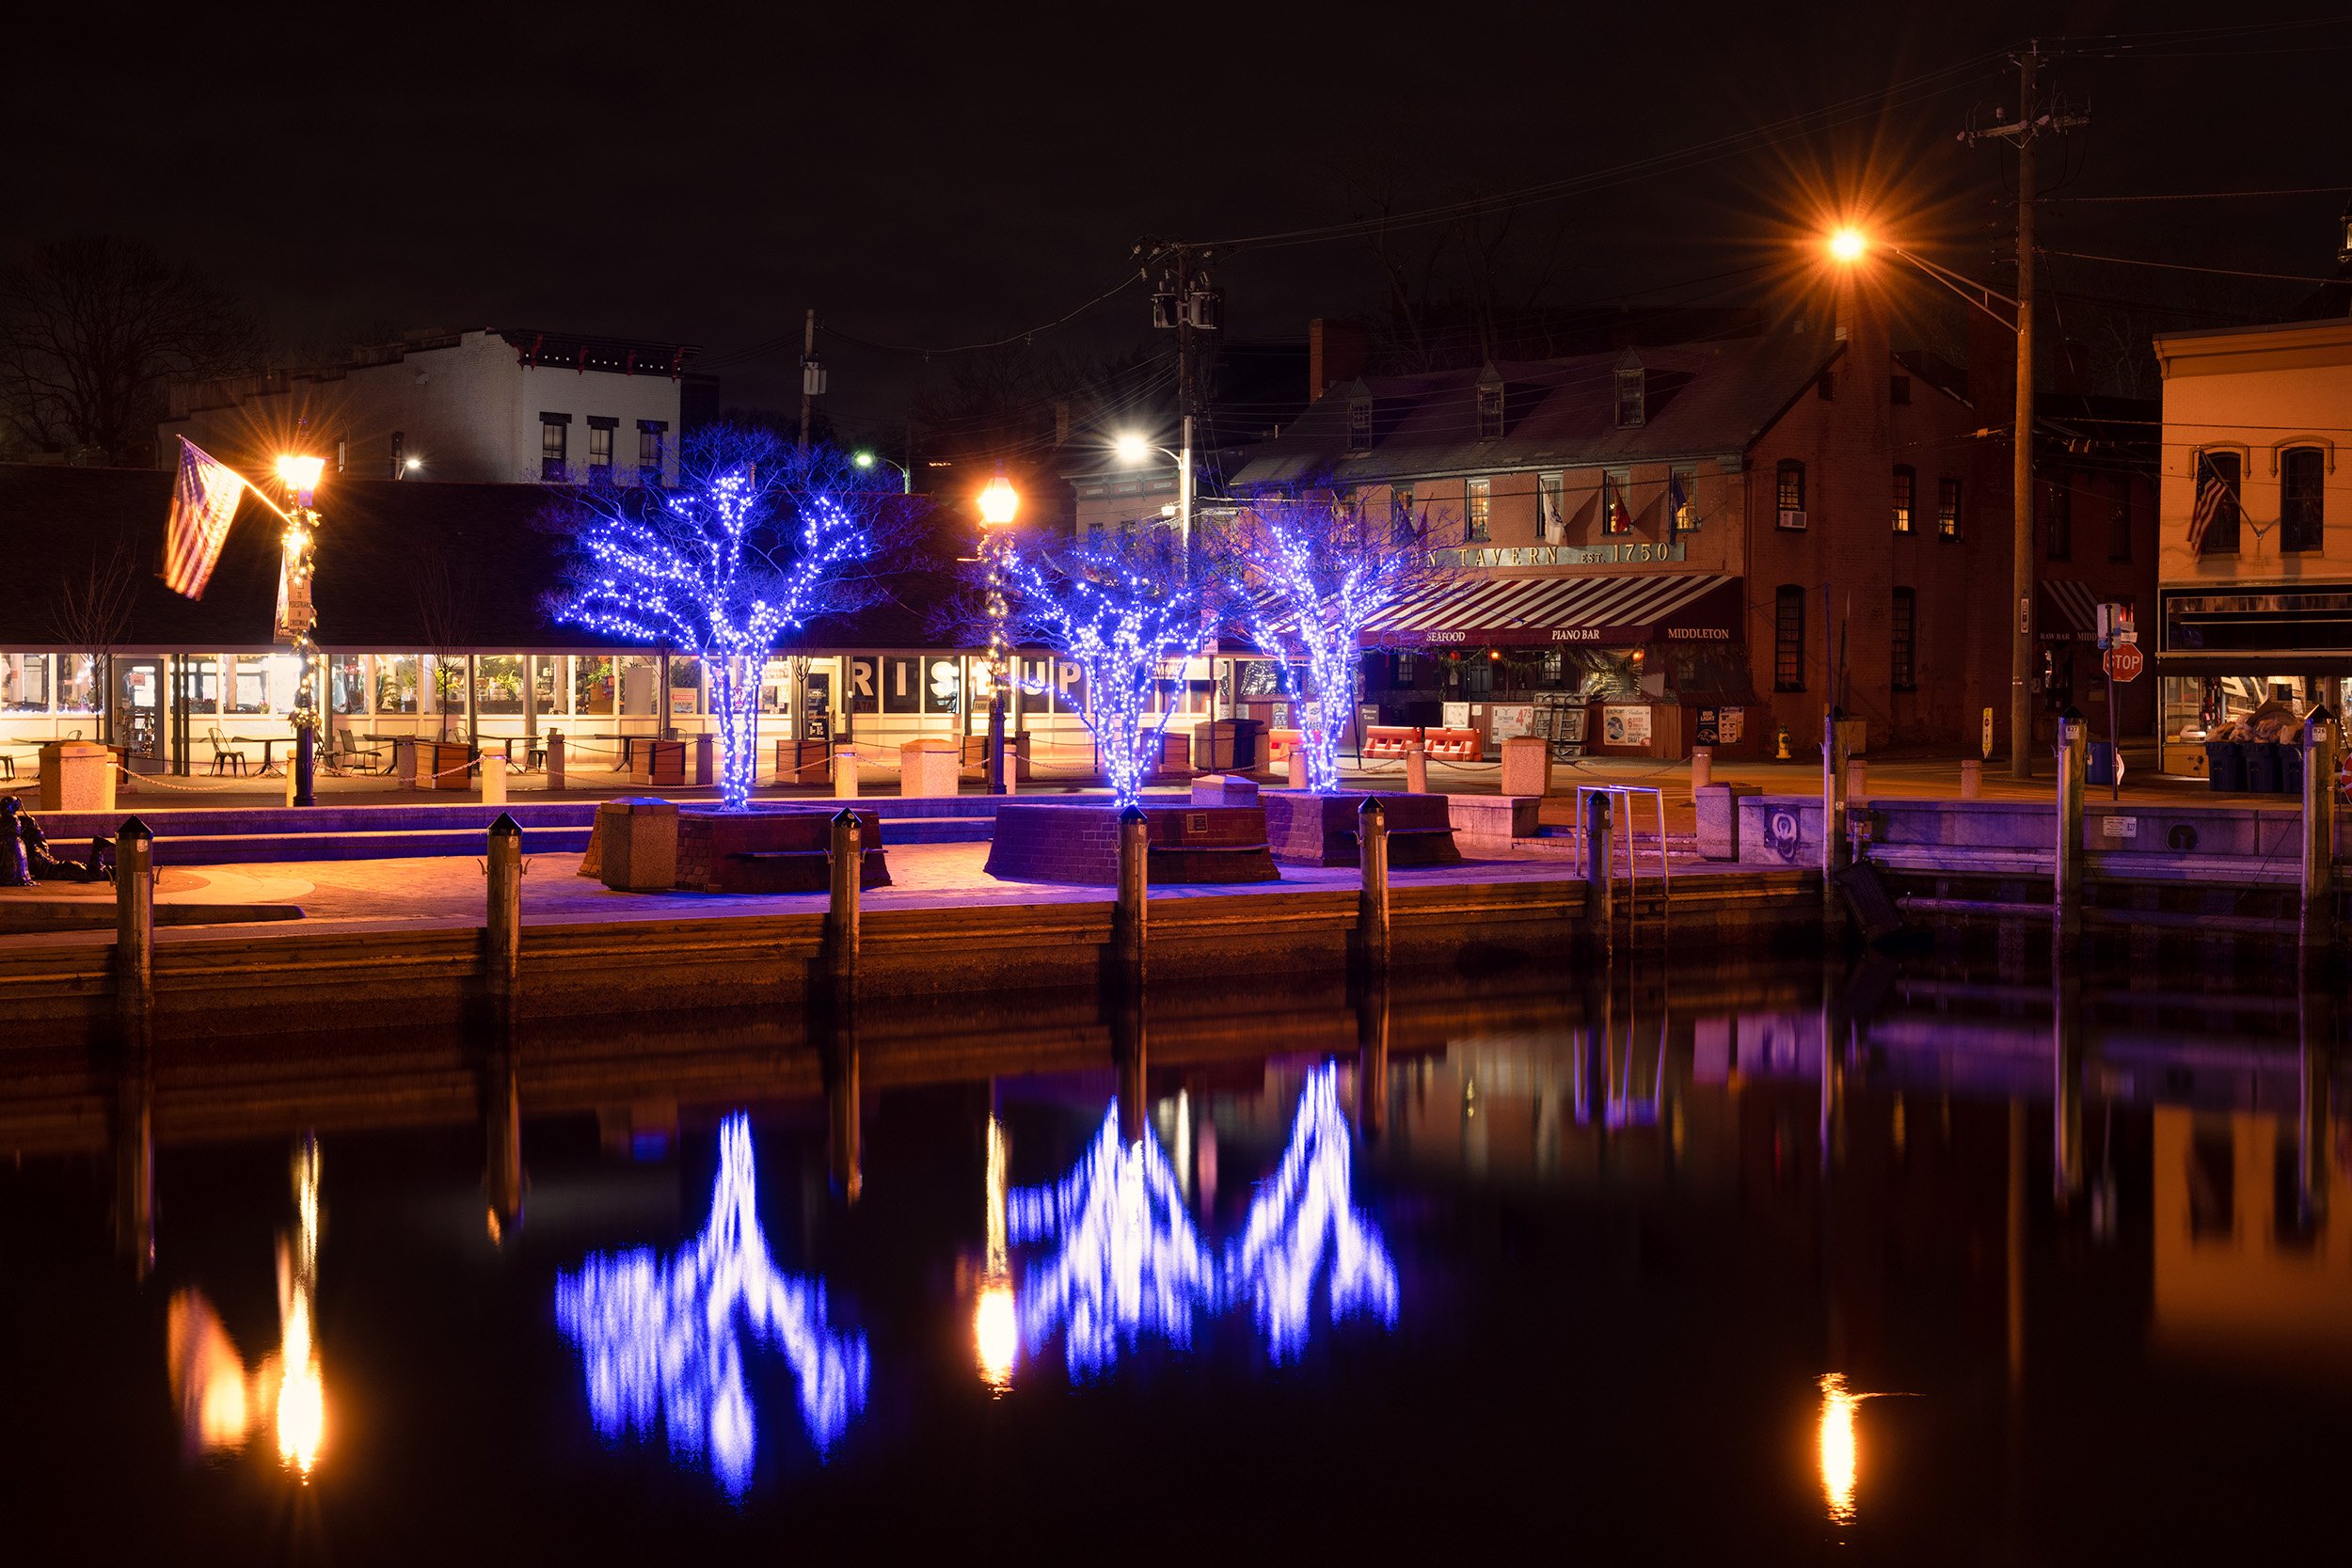
[[[1103,776],[1120,806],[1134,804],[1181,708],[1183,668],[1209,642],[1218,583],[1185,567],[1169,529],[1051,548],[1014,541],[1004,583],[1014,642],[1044,644],[1087,677],[1087,729]]]

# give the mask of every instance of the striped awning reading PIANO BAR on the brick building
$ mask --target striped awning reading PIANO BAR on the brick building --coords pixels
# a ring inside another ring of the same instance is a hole
[[[1270,628],[1282,635],[1287,625]],[[1364,628],[1367,646],[1748,642],[1740,578],[1708,571],[1456,578]]]

